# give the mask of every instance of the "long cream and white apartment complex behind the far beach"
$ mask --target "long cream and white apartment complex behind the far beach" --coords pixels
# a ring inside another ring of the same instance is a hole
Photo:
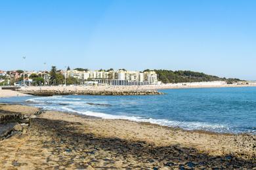
[[[91,78],[99,84],[109,85],[146,85],[157,84],[158,76],[154,71],[140,72],[140,71],[67,71],[68,76],[78,78],[80,80],[87,80]],[[110,81],[108,81],[110,80]],[[114,80],[114,81],[113,81]]]

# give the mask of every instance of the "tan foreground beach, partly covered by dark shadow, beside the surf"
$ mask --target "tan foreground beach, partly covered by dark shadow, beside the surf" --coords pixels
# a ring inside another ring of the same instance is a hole
[[[0,141],[0,169],[253,169],[255,135],[186,131],[20,105],[26,131]]]

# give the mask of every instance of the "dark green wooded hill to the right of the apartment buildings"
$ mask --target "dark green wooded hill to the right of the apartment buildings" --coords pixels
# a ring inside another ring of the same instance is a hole
[[[146,69],[144,71],[150,71]],[[158,80],[163,83],[177,83],[177,82],[207,82],[223,80],[232,84],[233,82],[242,81],[238,78],[220,78],[218,76],[206,75],[194,71],[171,71],[171,70],[152,70],[158,75]]]

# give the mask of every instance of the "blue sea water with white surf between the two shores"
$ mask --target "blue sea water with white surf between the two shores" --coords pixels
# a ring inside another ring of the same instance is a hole
[[[164,95],[2,98],[20,103],[108,119],[151,122],[183,129],[256,134],[256,88],[161,90]]]

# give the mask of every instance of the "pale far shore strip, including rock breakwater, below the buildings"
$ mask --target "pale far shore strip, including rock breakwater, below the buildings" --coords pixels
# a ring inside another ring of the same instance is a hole
[[[193,83],[160,84],[145,86],[26,86],[19,90],[1,90],[0,97],[29,95],[161,95],[158,90],[197,89],[197,88],[246,88],[256,84],[198,85]]]

